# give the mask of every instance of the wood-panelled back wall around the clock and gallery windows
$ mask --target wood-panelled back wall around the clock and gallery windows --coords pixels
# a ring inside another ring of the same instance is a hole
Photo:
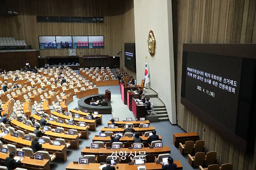
[[[13,7],[18,16],[0,15],[0,37],[26,40],[39,49],[37,36],[104,35],[104,49],[77,49],[78,56],[94,53],[116,56],[123,51],[120,65],[124,68],[124,43],[135,42],[133,0],[3,0],[1,13]],[[30,5],[28,5],[30,4]],[[0,9],[1,9],[0,7]],[[103,16],[103,23],[37,23],[36,16]],[[40,57],[67,56],[68,50],[40,50]],[[129,71],[131,75],[136,75]]]

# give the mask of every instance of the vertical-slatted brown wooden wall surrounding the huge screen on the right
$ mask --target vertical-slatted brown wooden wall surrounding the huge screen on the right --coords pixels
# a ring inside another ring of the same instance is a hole
[[[256,43],[256,1],[179,0],[175,3],[177,123],[186,132],[197,132],[205,140],[206,151],[217,151],[218,163],[233,163],[233,170],[256,170],[256,147],[254,154],[242,153],[180,102],[182,44]]]

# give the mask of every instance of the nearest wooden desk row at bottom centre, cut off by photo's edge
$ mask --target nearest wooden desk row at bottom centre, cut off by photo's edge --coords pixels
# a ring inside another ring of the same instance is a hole
[[[174,161],[177,164],[177,170],[182,170],[182,164],[180,161]],[[100,167],[100,163],[89,163],[89,164],[74,164],[70,162],[66,167],[66,170],[98,170]],[[161,170],[162,165],[156,163],[145,163],[147,170]],[[118,167],[120,170],[138,170],[138,165],[129,165],[128,163],[118,163],[114,165],[114,167]],[[116,168],[117,169],[117,168]]]

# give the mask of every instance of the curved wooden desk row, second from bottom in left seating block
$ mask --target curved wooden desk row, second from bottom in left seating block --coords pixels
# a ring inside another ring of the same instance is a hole
[[[31,141],[22,139],[21,137],[13,137],[8,134],[3,136],[2,139],[7,143],[16,145],[17,148],[31,147]],[[55,153],[56,159],[58,160],[67,160],[67,147],[65,145],[56,146],[46,143],[42,144],[42,149],[48,151],[50,154]]]

